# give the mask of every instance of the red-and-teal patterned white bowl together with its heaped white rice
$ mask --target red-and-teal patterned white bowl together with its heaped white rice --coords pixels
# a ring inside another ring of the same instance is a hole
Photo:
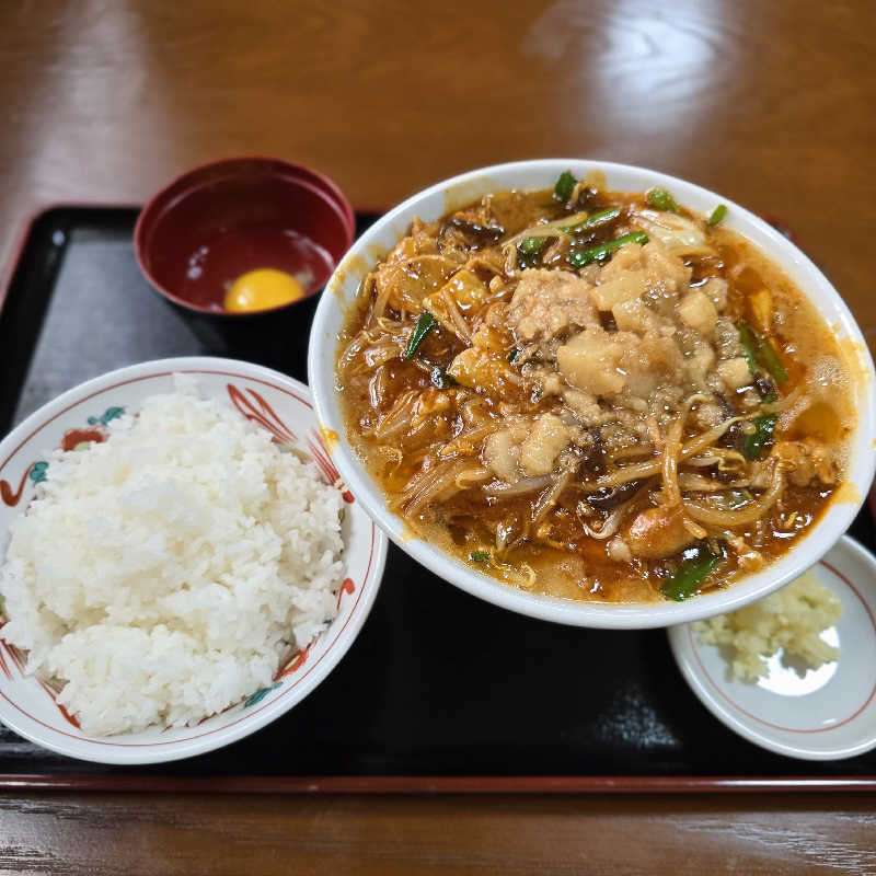
[[[0,721],[137,764],[300,702],[387,554],[332,440],[307,387],[205,357],[113,371],[20,424],[0,442]]]

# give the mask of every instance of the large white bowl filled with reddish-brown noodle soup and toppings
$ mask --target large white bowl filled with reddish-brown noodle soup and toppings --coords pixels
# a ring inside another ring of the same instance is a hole
[[[424,566],[560,623],[740,608],[848,529],[874,371],[785,237],[691,183],[539,160],[439,183],[342,261],[309,379],[332,458]]]

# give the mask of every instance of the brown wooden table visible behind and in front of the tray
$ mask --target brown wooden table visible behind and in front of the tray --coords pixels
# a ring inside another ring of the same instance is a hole
[[[458,171],[645,164],[774,217],[876,346],[872,3],[0,7],[0,263],[57,200],[277,154],[383,207]],[[719,752],[716,752],[719,758]],[[3,873],[876,872],[869,795],[10,792]]]

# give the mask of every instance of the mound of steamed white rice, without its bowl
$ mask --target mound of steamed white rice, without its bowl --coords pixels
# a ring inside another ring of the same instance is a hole
[[[338,491],[175,380],[104,443],[51,454],[0,568],[3,638],[90,735],[220,712],[336,613]]]

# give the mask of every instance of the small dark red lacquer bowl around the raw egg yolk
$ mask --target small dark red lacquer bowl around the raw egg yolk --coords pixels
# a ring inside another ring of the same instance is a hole
[[[289,330],[312,319],[354,235],[353,208],[326,176],[279,159],[231,158],[188,171],[158,192],[140,214],[134,246],[149,283],[211,351],[264,355],[281,350]],[[306,277],[304,297],[226,312],[229,286],[257,268]]]

